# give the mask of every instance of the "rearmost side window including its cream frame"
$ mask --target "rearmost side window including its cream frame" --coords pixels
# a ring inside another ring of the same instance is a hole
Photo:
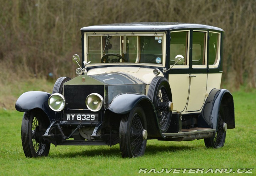
[[[220,56],[220,34],[209,32],[209,67],[218,66]],[[211,66],[210,66],[211,65]]]

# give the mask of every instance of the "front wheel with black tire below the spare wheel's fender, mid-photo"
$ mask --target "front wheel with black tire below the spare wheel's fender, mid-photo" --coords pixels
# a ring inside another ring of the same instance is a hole
[[[123,158],[144,155],[146,139],[143,140],[143,130],[147,130],[146,116],[142,107],[137,105],[121,118],[119,144]]]

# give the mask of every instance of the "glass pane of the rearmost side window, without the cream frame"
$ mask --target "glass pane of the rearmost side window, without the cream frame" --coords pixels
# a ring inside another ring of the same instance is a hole
[[[218,59],[219,34],[210,32],[209,37],[209,65],[215,65]]]

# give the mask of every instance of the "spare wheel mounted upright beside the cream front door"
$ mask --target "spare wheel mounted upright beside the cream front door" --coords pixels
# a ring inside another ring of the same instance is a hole
[[[166,78],[156,76],[150,83],[148,97],[155,106],[159,127],[162,133],[169,128],[172,112],[168,107],[161,108],[159,103],[168,103],[172,101],[170,84]]]

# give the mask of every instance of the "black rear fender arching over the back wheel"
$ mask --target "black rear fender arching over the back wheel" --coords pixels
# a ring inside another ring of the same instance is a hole
[[[224,109],[223,120],[227,123],[228,129],[235,128],[234,100],[232,94],[226,89],[213,89],[209,93],[198,118],[198,126],[216,129],[220,108]]]

